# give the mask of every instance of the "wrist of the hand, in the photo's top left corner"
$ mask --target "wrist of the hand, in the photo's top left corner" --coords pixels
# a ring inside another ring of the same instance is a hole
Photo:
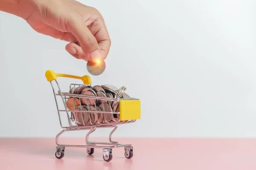
[[[26,20],[33,11],[34,0],[0,0],[0,11]]]

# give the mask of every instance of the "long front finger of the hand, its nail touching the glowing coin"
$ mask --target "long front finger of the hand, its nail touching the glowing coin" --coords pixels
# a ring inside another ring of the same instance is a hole
[[[90,59],[90,61],[102,58],[99,44],[83,20],[76,18],[68,25],[70,25],[69,31],[79,41],[86,58]]]

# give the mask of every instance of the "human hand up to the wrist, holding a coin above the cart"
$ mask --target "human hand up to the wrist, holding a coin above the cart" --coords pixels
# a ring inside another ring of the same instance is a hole
[[[75,0],[25,0],[23,19],[37,32],[70,42],[66,50],[77,59],[105,59],[111,40],[102,15]],[[80,44],[80,46],[78,45]]]

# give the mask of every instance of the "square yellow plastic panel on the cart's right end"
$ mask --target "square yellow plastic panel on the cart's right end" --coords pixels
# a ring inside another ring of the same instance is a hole
[[[140,119],[140,100],[120,100],[120,120]]]

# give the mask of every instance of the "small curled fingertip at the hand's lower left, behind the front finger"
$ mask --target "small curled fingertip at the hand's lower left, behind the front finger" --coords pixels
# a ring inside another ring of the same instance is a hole
[[[76,43],[69,43],[66,45],[66,50],[69,52],[73,57],[77,59],[84,59],[85,61],[89,61],[89,57],[84,54],[82,48],[77,45]]]

